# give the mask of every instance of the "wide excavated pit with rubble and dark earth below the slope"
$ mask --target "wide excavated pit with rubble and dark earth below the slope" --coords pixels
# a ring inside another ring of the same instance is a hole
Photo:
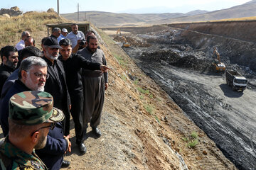
[[[254,42],[153,26],[122,28],[132,44],[123,48],[164,89],[238,169],[256,167],[256,86]],[[250,83],[243,92],[225,84],[212,70],[213,47],[227,69],[238,70]]]

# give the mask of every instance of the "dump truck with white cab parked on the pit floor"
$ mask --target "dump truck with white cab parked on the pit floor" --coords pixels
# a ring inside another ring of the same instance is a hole
[[[236,71],[226,71],[226,82],[233,91],[244,91],[247,86],[247,79]]]

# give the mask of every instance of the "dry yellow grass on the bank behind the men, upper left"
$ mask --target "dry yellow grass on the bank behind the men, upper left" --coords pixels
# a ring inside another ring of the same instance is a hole
[[[56,13],[38,13],[28,12],[23,16],[16,16],[11,18],[0,17],[0,47],[6,45],[16,45],[21,39],[23,30],[28,30],[34,39],[40,31],[46,31],[46,24],[48,23],[63,23],[65,20],[58,17]]]

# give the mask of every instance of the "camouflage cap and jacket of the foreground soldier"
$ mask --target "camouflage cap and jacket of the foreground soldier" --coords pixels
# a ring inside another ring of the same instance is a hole
[[[63,112],[53,108],[53,96],[47,92],[24,91],[14,94],[10,98],[9,120],[16,125],[29,125],[33,128],[33,125],[58,123],[63,119]],[[11,131],[9,133],[13,134]],[[11,141],[14,142],[17,139],[14,134],[12,137],[7,135],[6,138],[0,140],[0,170],[47,169],[46,165],[36,155],[34,149],[31,154],[28,154],[11,143]],[[24,142],[28,138],[29,136],[25,140],[21,139]],[[29,145],[31,144],[28,142],[28,147],[30,147]],[[26,147],[26,145],[23,147]]]

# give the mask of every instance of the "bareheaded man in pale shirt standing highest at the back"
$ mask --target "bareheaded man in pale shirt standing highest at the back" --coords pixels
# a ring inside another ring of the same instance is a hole
[[[78,30],[78,25],[76,23],[71,25],[71,29],[72,32],[68,33],[67,38],[71,40],[72,52],[75,53],[78,51],[80,42],[82,40],[85,42],[85,34]]]

